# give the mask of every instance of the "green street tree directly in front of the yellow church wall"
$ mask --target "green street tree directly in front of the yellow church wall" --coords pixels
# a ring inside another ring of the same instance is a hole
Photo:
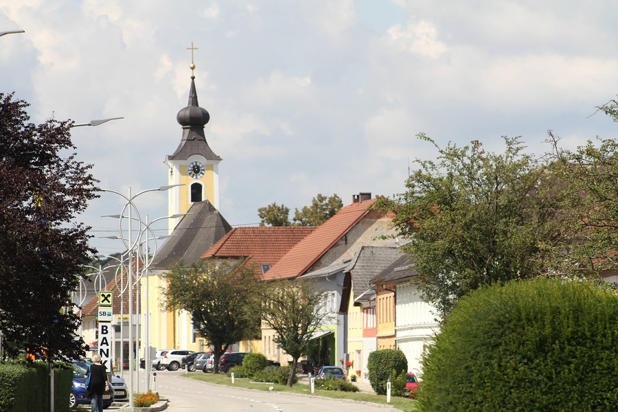
[[[165,279],[165,307],[190,312],[196,330],[214,347],[216,373],[220,356],[231,344],[259,333],[262,283],[253,268],[201,261],[186,268],[180,262]]]

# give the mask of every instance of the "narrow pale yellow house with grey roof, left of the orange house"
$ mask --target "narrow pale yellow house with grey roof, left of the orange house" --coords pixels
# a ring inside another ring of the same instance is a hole
[[[343,271],[341,312],[347,314],[347,358],[357,380],[367,375],[367,358],[376,350],[376,290],[370,279],[404,255],[399,244],[363,246]],[[351,374],[350,372],[349,374]]]

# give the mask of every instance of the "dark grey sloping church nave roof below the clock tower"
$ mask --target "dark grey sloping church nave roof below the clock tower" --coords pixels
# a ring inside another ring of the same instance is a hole
[[[194,203],[187,213],[174,228],[172,236],[157,251],[150,268],[168,269],[179,260],[189,266],[232,230],[209,201]]]

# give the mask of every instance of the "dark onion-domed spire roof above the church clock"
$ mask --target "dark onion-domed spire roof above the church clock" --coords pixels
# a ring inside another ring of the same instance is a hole
[[[176,115],[176,120],[183,126],[183,137],[173,155],[168,155],[167,160],[187,160],[192,155],[202,155],[209,161],[220,161],[221,158],[212,151],[206,141],[204,125],[210,119],[205,108],[198,104],[195,89],[195,76],[191,76],[189,90],[189,102],[185,108],[181,108]]]

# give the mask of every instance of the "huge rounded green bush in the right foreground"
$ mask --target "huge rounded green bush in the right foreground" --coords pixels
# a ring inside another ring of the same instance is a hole
[[[615,411],[618,296],[538,279],[472,292],[423,358],[422,411]]]

